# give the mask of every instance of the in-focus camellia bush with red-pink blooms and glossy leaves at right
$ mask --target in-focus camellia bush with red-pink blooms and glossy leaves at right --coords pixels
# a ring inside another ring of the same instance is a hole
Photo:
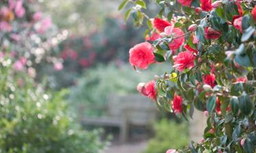
[[[167,62],[173,70],[137,89],[177,116],[192,117],[194,109],[208,116],[200,143],[167,153],[256,152],[256,1],[150,4],[159,7],[156,16],[145,14],[143,0],[119,6],[128,7],[125,20],[148,27],[146,41],[130,49],[130,64],[139,71]]]

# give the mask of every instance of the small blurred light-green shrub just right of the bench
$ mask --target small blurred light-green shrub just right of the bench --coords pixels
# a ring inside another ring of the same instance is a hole
[[[170,148],[182,148],[188,144],[188,126],[162,119],[154,124],[156,135],[150,139],[143,153],[165,153]]]

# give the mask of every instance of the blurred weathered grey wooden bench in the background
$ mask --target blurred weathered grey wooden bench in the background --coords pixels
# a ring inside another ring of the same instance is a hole
[[[119,141],[128,138],[129,126],[148,126],[156,119],[156,107],[147,97],[141,95],[110,95],[107,116],[88,118],[80,116],[83,125],[115,126],[120,129]]]

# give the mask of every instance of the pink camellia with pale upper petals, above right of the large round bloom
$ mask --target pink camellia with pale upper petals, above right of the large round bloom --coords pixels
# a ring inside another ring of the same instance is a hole
[[[169,48],[171,50],[177,50],[184,43],[184,40],[185,40],[184,33],[179,28],[173,28],[173,26],[166,27],[165,34],[173,35],[173,37],[177,37],[169,43]]]

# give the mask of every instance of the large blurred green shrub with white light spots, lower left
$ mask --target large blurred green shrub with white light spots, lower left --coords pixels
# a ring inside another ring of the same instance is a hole
[[[65,91],[55,95],[45,92],[27,73],[13,71],[12,65],[3,63],[0,63],[1,153],[98,153],[104,148],[98,131],[82,131],[67,114]]]

